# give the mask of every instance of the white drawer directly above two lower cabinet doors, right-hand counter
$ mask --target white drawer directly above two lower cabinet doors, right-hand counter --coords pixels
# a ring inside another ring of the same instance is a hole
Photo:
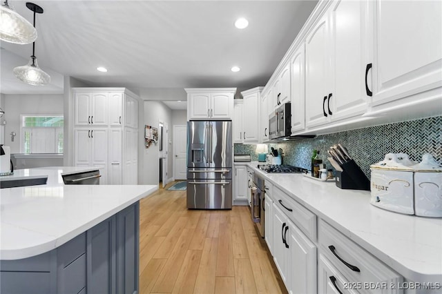
[[[277,187],[273,187],[273,202],[312,241],[316,241],[316,215]]]

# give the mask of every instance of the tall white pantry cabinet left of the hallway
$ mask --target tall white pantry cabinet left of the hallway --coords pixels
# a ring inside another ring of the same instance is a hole
[[[74,166],[99,167],[100,184],[137,184],[138,101],[126,88],[73,88]]]

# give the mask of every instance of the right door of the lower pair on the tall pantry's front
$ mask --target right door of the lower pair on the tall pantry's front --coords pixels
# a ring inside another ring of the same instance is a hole
[[[107,185],[108,180],[108,130],[95,128],[90,130],[90,166],[99,167],[99,184]]]

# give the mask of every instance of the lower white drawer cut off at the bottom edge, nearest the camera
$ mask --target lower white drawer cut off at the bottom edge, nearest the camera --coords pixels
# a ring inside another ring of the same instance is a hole
[[[318,258],[318,293],[358,293],[357,284],[349,283],[323,253]]]

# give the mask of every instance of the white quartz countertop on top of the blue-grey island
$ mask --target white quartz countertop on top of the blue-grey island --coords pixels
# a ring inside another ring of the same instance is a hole
[[[0,259],[21,259],[57,248],[157,190],[157,185],[63,184],[62,173],[88,170],[97,168],[14,172],[16,177],[48,175],[48,184],[0,190]]]

